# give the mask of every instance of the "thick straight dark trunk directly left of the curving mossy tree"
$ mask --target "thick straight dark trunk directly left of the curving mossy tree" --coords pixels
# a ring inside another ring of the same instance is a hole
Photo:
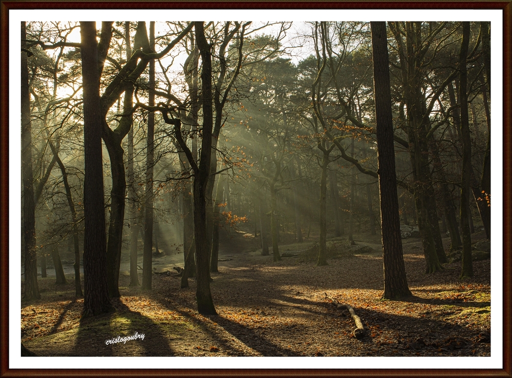
[[[112,309],[106,284],[106,235],[101,148],[102,115],[99,97],[96,23],[80,22],[83,144],[85,174],[83,180],[84,242],[83,317]]]

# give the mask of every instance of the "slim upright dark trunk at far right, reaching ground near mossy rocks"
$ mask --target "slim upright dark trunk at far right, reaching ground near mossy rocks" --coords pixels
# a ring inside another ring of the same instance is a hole
[[[461,278],[473,277],[473,261],[471,258],[471,230],[468,217],[470,210],[471,180],[471,135],[467,109],[467,50],[470,39],[470,23],[462,23],[462,43],[459,55],[459,102],[460,102],[460,135],[462,139],[462,177],[460,190],[460,228],[462,235],[462,271]]]

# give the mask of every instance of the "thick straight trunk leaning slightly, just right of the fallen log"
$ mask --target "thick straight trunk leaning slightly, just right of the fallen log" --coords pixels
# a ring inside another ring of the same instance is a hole
[[[384,264],[384,293],[382,298],[395,299],[409,296],[411,291],[407,284],[402,255],[402,240],[400,238],[386,23],[372,22],[371,30]]]

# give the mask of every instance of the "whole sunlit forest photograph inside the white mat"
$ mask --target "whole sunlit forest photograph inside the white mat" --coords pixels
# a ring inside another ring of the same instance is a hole
[[[22,356],[490,356],[490,22],[20,35]]]

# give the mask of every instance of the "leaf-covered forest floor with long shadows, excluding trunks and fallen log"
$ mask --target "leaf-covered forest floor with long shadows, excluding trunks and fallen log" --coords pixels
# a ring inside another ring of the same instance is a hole
[[[80,322],[83,298],[74,296],[73,275],[60,286],[39,279],[41,299],[22,301],[22,343],[40,356],[490,355],[490,260],[475,261],[475,276],[465,281],[458,279],[460,262],[425,275],[420,239],[405,239],[413,296],[381,301],[379,237],[354,239],[373,251],[358,254],[344,238],[330,239],[329,265],[315,266],[312,240],[281,245],[288,257],[273,262],[252,235],[224,234],[219,272],[211,274],[217,316],[197,313],[195,279],[180,289],[180,277],[154,274],[148,292],[121,275],[116,311]],[[161,255],[157,271],[183,266],[182,254]],[[364,338],[352,336],[354,321],[327,297],[354,308]],[[135,333],[144,339],[105,343]]]

